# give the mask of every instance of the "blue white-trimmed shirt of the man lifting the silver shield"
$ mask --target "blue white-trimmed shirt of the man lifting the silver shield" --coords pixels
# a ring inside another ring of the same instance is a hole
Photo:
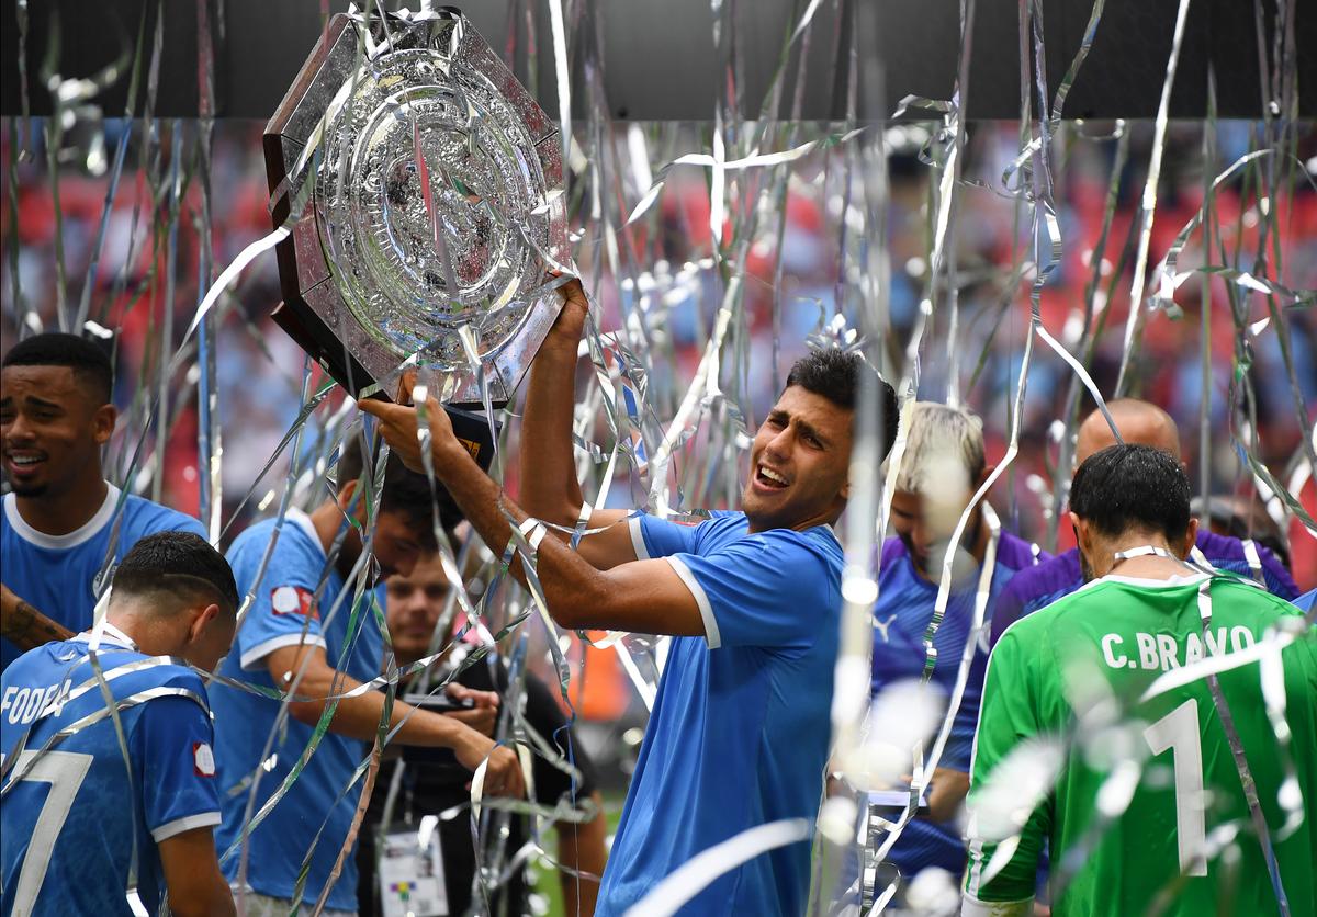
[[[619,916],[673,870],[736,834],[818,814],[842,597],[832,530],[745,534],[743,513],[697,526],[631,520],[636,555],[666,558],[703,638],[673,637],[595,914]],[[801,914],[807,841],[714,880],[684,914]]]

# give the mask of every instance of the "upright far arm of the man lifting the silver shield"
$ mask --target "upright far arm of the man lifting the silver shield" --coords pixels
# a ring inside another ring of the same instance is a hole
[[[583,496],[577,480],[572,425],[576,410],[577,351],[590,310],[579,280],[562,287],[564,305],[531,368],[531,384],[522,417],[520,478],[522,508],[554,525],[574,526]],[[627,513],[597,509],[593,529],[606,532],[581,539],[581,555],[606,570],[635,560]],[[551,530],[552,532],[552,530]],[[566,541],[562,533],[554,533]]]

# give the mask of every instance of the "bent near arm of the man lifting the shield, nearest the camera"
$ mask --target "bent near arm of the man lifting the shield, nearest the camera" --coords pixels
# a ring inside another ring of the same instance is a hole
[[[379,418],[389,446],[410,468],[424,468],[415,408],[382,401],[362,401],[360,407]],[[527,513],[481,471],[470,453],[457,442],[448,414],[435,399],[427,401],[425,414],[433,434],[431,451],[436,475],[485,543],[500,551],[512,535],[508,517],[520,525]],[[624,526],[616,528],[624,532]],[[635,557],[630,533],[624,537],[631,557]],[[512,562],[511,572],[525,584],[520,559]],[[549,614],[564,628],[691,637],[705,634],[695,596],[666,560],[632,560],[598,570],[562,541],[547,537],[539,546],[536,575],[544,587]]]

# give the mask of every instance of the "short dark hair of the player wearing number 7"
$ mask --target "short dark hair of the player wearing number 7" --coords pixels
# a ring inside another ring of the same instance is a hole
[[[115,570],[113,595],[174,601],[216,600],[225,614],[238,610],[238,587],[224,555],[191,532],[157,532],[128,551]]]

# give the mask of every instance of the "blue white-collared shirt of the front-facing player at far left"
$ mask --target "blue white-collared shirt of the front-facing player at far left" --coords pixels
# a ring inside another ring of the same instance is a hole
[[[74,633],[91,626],[96,599],[104,591],[100,585],[109,582],[115,566],[138,541],[155,532],[191,532],[205,538],[202,524],[191,516],[142,497],[128,496],[120,513],[120,491],[112,484],[108,487],[96,514],[66,535],[37,532],[18,514],[17,497],[4,495],[4,512],[0,513],[4,584]],[[97,579],[103,567],[105,575]],[[0,671],[20,655],[17,646],[0,638]]]

